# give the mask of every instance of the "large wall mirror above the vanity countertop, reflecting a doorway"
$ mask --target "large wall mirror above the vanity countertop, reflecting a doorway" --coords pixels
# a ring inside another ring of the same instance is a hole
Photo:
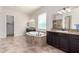
[[[67,11],[66,8],[70,9]],[[54,14],[53,29],[79,30],[79,7],[66,8]]]

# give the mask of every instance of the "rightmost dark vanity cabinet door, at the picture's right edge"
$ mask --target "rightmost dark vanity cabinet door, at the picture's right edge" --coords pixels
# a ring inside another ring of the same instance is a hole
[[[70,52],[79,53],[79,37],[74,37],[74,36],[71,37]]]

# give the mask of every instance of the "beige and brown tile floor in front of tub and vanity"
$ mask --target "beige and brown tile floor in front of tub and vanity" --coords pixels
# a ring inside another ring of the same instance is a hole
[[[0,39],[0,53],[64,53],[52,46],[34,46],[24,36]]]

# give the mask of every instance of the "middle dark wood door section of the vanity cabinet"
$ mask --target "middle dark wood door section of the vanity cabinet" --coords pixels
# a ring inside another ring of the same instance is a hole
[[[60,49],[65,52],[69,52],[69,36],[62,34],[60,37]]]

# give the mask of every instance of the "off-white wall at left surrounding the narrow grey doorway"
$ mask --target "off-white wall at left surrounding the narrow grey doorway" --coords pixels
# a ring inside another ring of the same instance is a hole
[[[1,10],[0,12],[2,14],[1,15],[1,21],[0,22],[0,37],[6,37],[6,15],[11,15],[14,16],[14,36],[20,36],[24,34],[24,31],[26,29],[26,24],[28,22],[28,16],[22,12],[13,10],[13,9],[9,9],[9,8],[4,8],[4,7],[0,7]]]

